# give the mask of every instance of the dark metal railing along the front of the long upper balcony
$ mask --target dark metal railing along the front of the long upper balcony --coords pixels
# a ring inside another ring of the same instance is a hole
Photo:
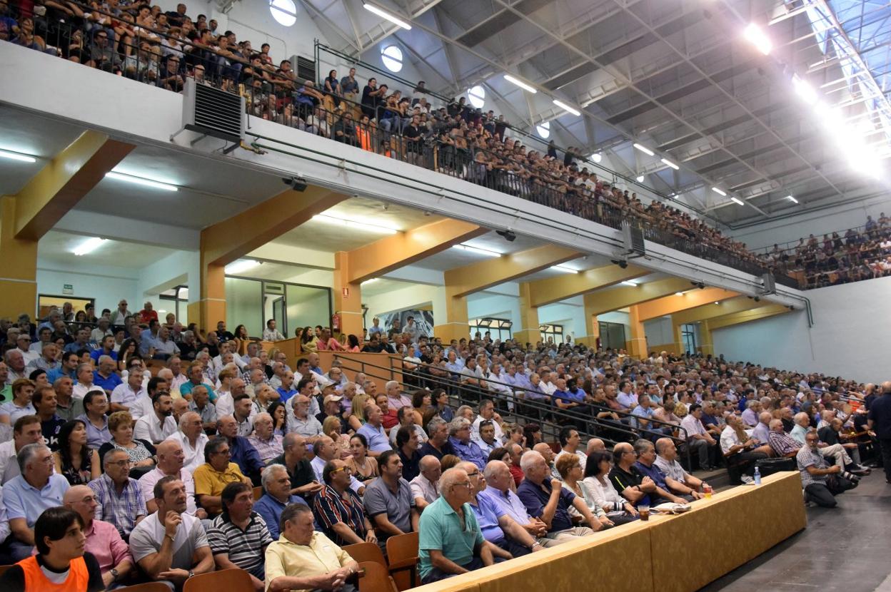
[[[119,18],[77,2],[69,4],[81,7],[84,12],[109,19]],[[696,231],[682,228],[668,216],[650,223],[635,215],[633,207],[620,206],[609,193],[590,191],[571,179],[555,178],[540,170],[529,169],[512,155],[505,154],[508,147],[503,143],[499,147],[495,141],[490,141],[488,146],[494,150],[480,149],[462,137],[454,140],[444,136],[431,137],[427,129],[422,129],[419,136],[406,137],[405,119],[394,116],[385,106],[369,111],[367,106],[342,97],[333,97],[329,103],[338,102],[342,110],[305,105],[298,98],[297,80],[264,66],[261,60],[224,55],[200,42],[177,39],[144,28],[135,31],[127,28],[127,22],[121,24],[120,30],[116,31],[99,24],[87,26],[47,21],[39,28],[45,35],[44,45],[34,48],[55,47],[63,57],[93,63],[99,69],[173,92],[183,89],[185,77],[194,77],[200,84],[245,95],[249,115],[331,137],[610,228],[619,229],[631,218],[641,225],[646,239],[666,247],[752,275],[767,271],[755,255],[740,255],[718,245],[709,245]],[[349,112],[350,116],[344,116],[344,112]],[[354,113],[364,113],[372,120],[367,123],[350,121]],[[268,147],[255,142],[255,148]],[[778,275],[776,281],[791,288],[798,287],[797,280],[783,274]]]

